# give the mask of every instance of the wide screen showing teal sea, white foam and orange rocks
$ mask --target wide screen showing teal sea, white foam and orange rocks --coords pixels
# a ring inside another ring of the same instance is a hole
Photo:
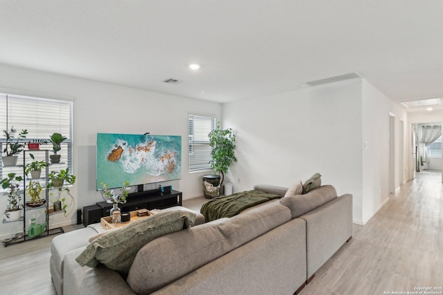
[[[181,179],[181,136],[97,133],[97,189]]]

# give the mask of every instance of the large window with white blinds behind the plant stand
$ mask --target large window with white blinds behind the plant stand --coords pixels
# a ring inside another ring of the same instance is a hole
[[[62,164],[49,167],[49,171],[69,168],[72,171],[72,102],[64,100],[28,97],[23,95],[10,95],[0,93],[0,148],[2,155],[5,149],[6,138],[3,130],[17,130],[15,136],[22,129],[28,134],[22,142],[32,140],[49,140],[53,133],[60,133],[67,137],[62,142],[62,150],[57,154],[62,155]],[[52,149],[52,144],[44,145],[41,149]],[[49,152],[51,155],[52,153]],[[19,164],[23,163],[23,153],[19,155]],[[35,153],[37,160],[44,160],[44,153]],[[0,165],[0,179],[8,173],[15,172],[22,175],[21,167],[3,167]]]

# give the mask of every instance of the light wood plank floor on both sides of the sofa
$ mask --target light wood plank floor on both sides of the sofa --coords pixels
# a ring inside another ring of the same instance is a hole
[[[205,201],[183,200],[183,205],[199,211]],[[0,246],[0,294],[55,294],[49,273],[52,238]],[[417,173],[365,226],[354,225],[352,240],[318,270],[300,295],[374,295],[431,286],[443,287],[440,171]]]

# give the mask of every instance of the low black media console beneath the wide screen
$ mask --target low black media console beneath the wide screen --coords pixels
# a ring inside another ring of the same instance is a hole
[[[143,191],[132,193],[125,204],[118,204],[122,212],[135,211],[138,209],[165,209],[181,206],[183,194],[181,191],[171,190],[170,193],[162,193],[161,190]],[[83,207],[83,225],[91,225],[100,222],[100,218],[109,216],[112,204],[97,202],[95,205]]]

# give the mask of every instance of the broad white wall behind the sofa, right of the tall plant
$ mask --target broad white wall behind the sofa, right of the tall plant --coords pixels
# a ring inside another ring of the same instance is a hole
[[[339,195],[352,193],[362,220],[361,103],[356,79],[224,104],[223,128],[237,131],[234,190],[289,187],[318,172]]]

